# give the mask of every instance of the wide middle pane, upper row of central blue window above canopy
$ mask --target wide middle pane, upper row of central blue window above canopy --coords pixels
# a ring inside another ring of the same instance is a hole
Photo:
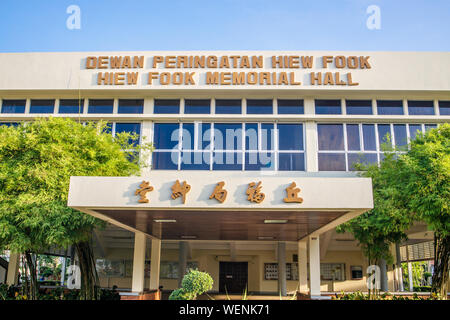
[[[240,123],[215,123],[214,149],[242,150],[242,125]]]

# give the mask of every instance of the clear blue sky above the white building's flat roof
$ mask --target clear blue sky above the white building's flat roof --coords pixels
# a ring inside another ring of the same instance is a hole
[[[67,7],[81,10],[69,30]],[[381,29],[366,13],[377,5]],[[450,0],[1,0],[0,52],[450,51]]]

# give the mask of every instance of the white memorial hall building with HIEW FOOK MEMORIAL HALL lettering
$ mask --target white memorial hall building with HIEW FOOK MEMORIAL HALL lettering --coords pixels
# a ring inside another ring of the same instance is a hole
[[[92,235],[101,286],[129,295],[192,268],[213,293],[365,291],[367,258],[336,232],[374,206],[355,163],[450,120],[449,53],[0,53],[0,70],[0,125],[105,120],[153,145],[141,176],[69,187],[68,206],[107,222]],[[385,290],[432,239],[417,224],[392,247]]]

